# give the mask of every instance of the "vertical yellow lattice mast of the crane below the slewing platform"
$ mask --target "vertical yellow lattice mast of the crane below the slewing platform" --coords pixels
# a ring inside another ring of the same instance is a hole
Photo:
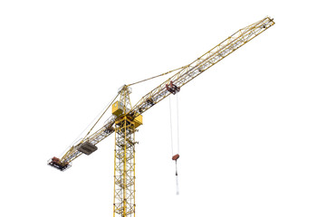
[[[116,121],[113,216],[135,216],[135,123]]]

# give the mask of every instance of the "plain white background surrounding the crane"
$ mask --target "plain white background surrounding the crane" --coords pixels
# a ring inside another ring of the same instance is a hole
[[[275,25],[181,89],[180,195],[168,99],[144,113],[137,216],[326,216],[322,1],[0,2],[0,215],[112,216],[111,136],[60,156],[123,84],[194,61],[266,15]],[[162,80],[135,86],[131,100]],[[102,124],[102,122],[101,122]]]

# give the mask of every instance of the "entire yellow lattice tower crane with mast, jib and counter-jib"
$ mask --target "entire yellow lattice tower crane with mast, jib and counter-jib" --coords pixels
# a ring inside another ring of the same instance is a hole
[[[158,85],[157,88],[149,91],[134,106],[131,106],[129,98],[131,93],[130,86],[132,84],[123,85],[111,101],[109,107],[104,111],[105,113],[112,106],[112,115],[104,122],[104,125],[91,133],[93,127],[103,116],[103,113],[85,137],[71,146],[61,158],[51,158],[48,161],[48,165],[65,171],[71,167],[74,159],[82,156],[82,154],[87,156],[91,155],[91,153],[98,149],[97,145],[101,140],[114,133],[113,216],[135,216],[135,146],[137,144],[135,133],[138,131],[138,127],[142,125],[142,114],[157,105],[161,100],[167,98],[170,94],[176,94],[187,82],[195,79],[198,75],[214,66],[218,61],[222,61],[226,56],[266,31],[273,24],[273,19],[267,16],[235,32],[226,38],[225,41],[220,42],[214,48],[198,57],[197,60],[177,70],[161,74],[166,75],[174,72],[173,76]],[[174,160],[177,157],[174,156]]]

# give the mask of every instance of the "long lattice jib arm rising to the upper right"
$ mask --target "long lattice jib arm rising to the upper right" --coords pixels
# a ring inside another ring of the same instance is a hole
[[[265,30],[273,26],[273,24],[273,19],[267,16],[263,20],[248,25],[232,34],[230,37],[225,39],[225,41],[219,43],[216,47],[203,54],[196,61],[180,68],[175,75],[164,81],[156,89],[151,90],[147,95],[140,99],[138,103],[136,103],[136,105],[129,111],[129,115],[136,118],[139,114],[145,112],[160,100],[168,97],[171,93],[167,90],[166,85],[170,81],[177,85],[178,88],[182,87],[187,84],[187,82],[195,79],[199,74],[215,65],[218,61],[223,60],[226,56],[235,52],[246,42],[251,41],[254,37],[263,33]]]

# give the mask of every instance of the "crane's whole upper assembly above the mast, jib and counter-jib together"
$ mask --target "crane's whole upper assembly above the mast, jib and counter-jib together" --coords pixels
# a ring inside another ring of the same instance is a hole
[[[126,96],[121,95],[124,90],[126,90],[125,92],[129,98],[129,90],[127,90],[128,85],[123,86],[118,93],[118,95],[120,95],[120,102],[122,102],[122,109],[112,111],[112,116],[106,121],[104,126],[88,136],[91,132],[90,131],[82,139],[82,141],[69,148],[69,150],[60,159],[57,157],[50,159],[48,165],[52,165],[53,167],[64,171],[71,166],[71,162],[78,156],[81,156],[82,154],[90,155],[92,152],[97,150],[96,145],[100,143],[101,140],[109,137],[110,134],[115,131],[115,125],[121,117],[128,117],[129,121],[131,121],[135,127],[139,127],[139,125],[142,124],[142,113],[158,104],[158,102],[162,99],[167,98],[169,94],[176,94],[182,86],[187,84],[187,82],[195,79],[198,75],[208,70],[218,61],[223,60],[226,56],[242,47],[246,42],[251,41],[254,39],[254,37],[273,26],[273,24],[273,19],[267,16],[263,20],[248,25],[245,28],[235,32],[223,42],[220,42],[214,48],[201,55],[199,58],[197,58],[197,60],[192,61],[190,64],[177,70],[164,73],[168,74],[170,72],[177,71],[173,76],[168,78],[168,80],[158,85],[157,88],[149,91],[149,93],[142,97],[132,108],[127,108]]]

